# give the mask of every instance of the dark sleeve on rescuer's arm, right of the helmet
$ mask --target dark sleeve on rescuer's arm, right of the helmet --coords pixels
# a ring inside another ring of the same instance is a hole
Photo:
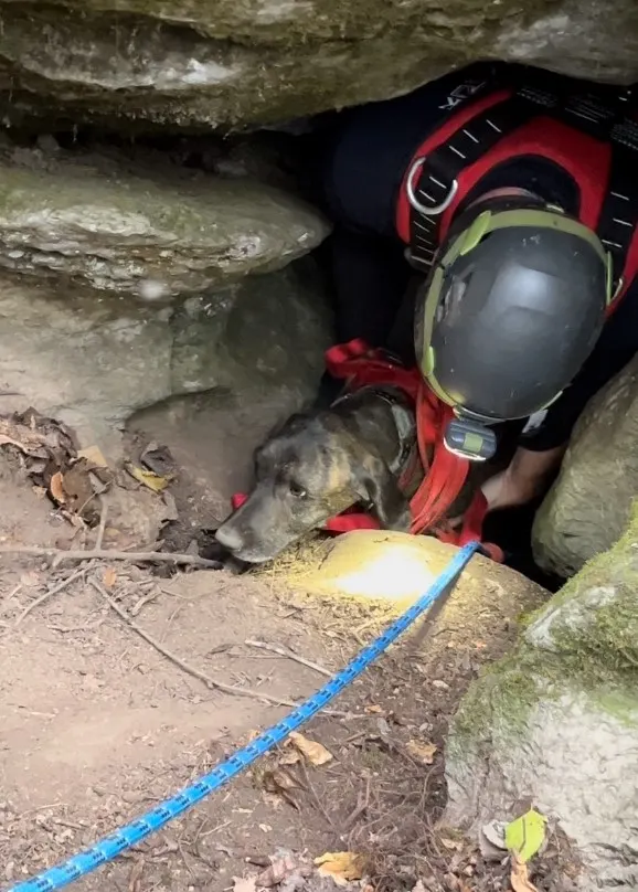
[[[587,362],[553,403],[542,422],[523,432],[520,445],[532,452],[563,446],[592,396],[625,368],[638,351],[638,283],[606,323]]]

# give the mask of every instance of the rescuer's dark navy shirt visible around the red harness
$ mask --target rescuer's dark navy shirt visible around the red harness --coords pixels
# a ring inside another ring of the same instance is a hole
[[[460,109],[471,108],[478,96],[503,84],[515,89],[528,83],[550,87],[555,84],[557,91],[575,97],[587,96],[594,89],[603,105],[612,103],[618,93],[613,86],[593,85],[527,66],[477,63],[405,96],[349,109],[342,113],[327,171],[328,197],[337,220],[353,230],[396,237],[397,199],[419,147],[448,126]],[[542,106],[538,117],[543,118]],[[575,137],[579,124],[586,129],[585,116],[574,116],[566,125]],[[477,194],[502,187],[527,189],[567,213],[578,214],[581,190],[571,173],[560,162],[529,153],[496,162],[461,201],[471,201]]]

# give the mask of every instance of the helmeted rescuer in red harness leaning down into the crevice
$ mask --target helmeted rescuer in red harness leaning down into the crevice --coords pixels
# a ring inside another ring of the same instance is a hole
[[[418,362],[459,420],[522,420],[489,510],[541,495],[638,348],[631,92],[477,63],[341,113],[322,169],[337,333]]]

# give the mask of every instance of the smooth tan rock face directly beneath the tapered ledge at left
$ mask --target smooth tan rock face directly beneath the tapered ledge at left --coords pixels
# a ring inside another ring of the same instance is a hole
[[[180,394],[291,412],[313,393],[329,342],[309,257],[173,306],[36,277],[0,287],[0,391],[19,392],[105,454],[118,452],[134,413]]]

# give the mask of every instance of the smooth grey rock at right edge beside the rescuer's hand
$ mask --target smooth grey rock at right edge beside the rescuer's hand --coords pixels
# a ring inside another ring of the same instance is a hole
[[[610,548],[638,496],[638,358],[589,402],[533,527],[536,562],[560,576]]]

